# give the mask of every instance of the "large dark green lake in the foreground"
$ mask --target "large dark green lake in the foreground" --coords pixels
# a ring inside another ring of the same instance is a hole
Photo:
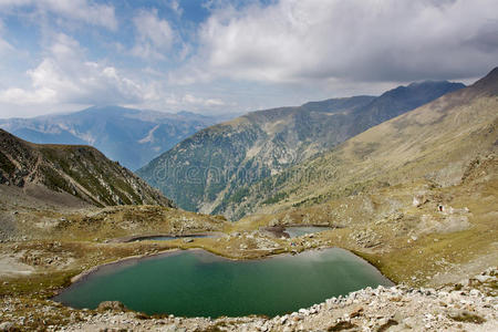
[[[338,248],[243,261],[186,250],[101,267],[54,300],[90,309],[117,300],[148,314],[273,317],[378,284],[392,282]]]

